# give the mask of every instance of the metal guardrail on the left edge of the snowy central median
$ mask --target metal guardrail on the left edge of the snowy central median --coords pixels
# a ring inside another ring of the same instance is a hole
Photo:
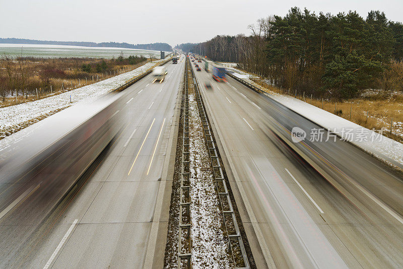
[[[183,110],[182,172],[179,196],[178,269],[191,268],[190,237],[190,153],[189,153],[189,98],[185,64],[185,93]]]

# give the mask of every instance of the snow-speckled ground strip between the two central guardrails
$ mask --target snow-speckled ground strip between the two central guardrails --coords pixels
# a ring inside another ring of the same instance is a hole
[[[189,87],[191,254],[193,268],[233,268],[216,194],[209,153],[203,137],[194,90]]]

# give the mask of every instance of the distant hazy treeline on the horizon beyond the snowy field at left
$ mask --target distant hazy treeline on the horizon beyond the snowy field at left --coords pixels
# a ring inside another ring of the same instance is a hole
[[[117,47],[117,48],[137,48],[149,50],[172,51],[172,47],[167,43],[150,43],[150,44],[129,44],[125,42],[82,42],[82,41],[46,41],[24,38],[0,38],[0,43],[7,44],[41,44],[41,45],[69,45],[83,47]]]

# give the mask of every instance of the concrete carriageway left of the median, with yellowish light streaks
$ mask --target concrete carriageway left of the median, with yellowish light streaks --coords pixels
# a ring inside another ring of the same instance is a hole
[[[1,220],[0,267],[162,267],[184,61],[165,66],[121,93],[122,128],[51,214]]]

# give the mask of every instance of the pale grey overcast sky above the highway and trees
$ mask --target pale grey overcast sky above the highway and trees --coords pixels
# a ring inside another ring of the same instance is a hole
[[[257,19],[284,16],[295,6],[317,14],[356,10],[364,18],[380,10],[403,21],[403,0],[0,0],[0,37],[175,46],[248,34]]]

